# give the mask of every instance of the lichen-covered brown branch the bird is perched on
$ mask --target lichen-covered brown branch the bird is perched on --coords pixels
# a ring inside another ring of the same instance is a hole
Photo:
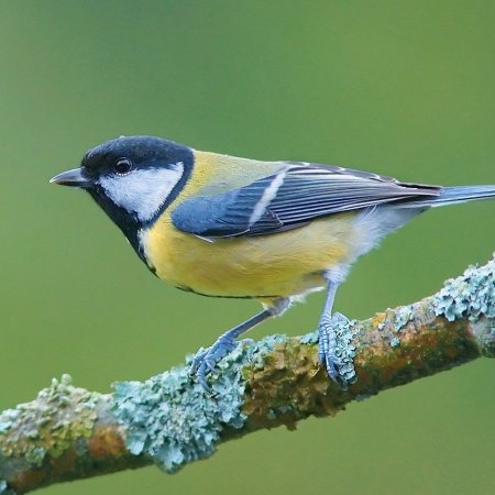
[[[188,363],[113,394],[72,385],[68,375],[31,403],[0,415],[0,494],[156,463],[175,472],[217,446],[309,416],[333,416],[351,400],[495,356],[495,260],[419,302],[338,329],[344,391],[318,363],[318,337],[242,341],[211,377],[208,395]]]

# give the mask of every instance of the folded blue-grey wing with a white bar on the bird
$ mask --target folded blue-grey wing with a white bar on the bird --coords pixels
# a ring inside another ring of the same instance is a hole
[[[316,218],[386,202],[438,196],[441,188],[336,166],[288,162],[248,186],[184,200],[174,226],[206,238],[260,235],[295,229]]]

